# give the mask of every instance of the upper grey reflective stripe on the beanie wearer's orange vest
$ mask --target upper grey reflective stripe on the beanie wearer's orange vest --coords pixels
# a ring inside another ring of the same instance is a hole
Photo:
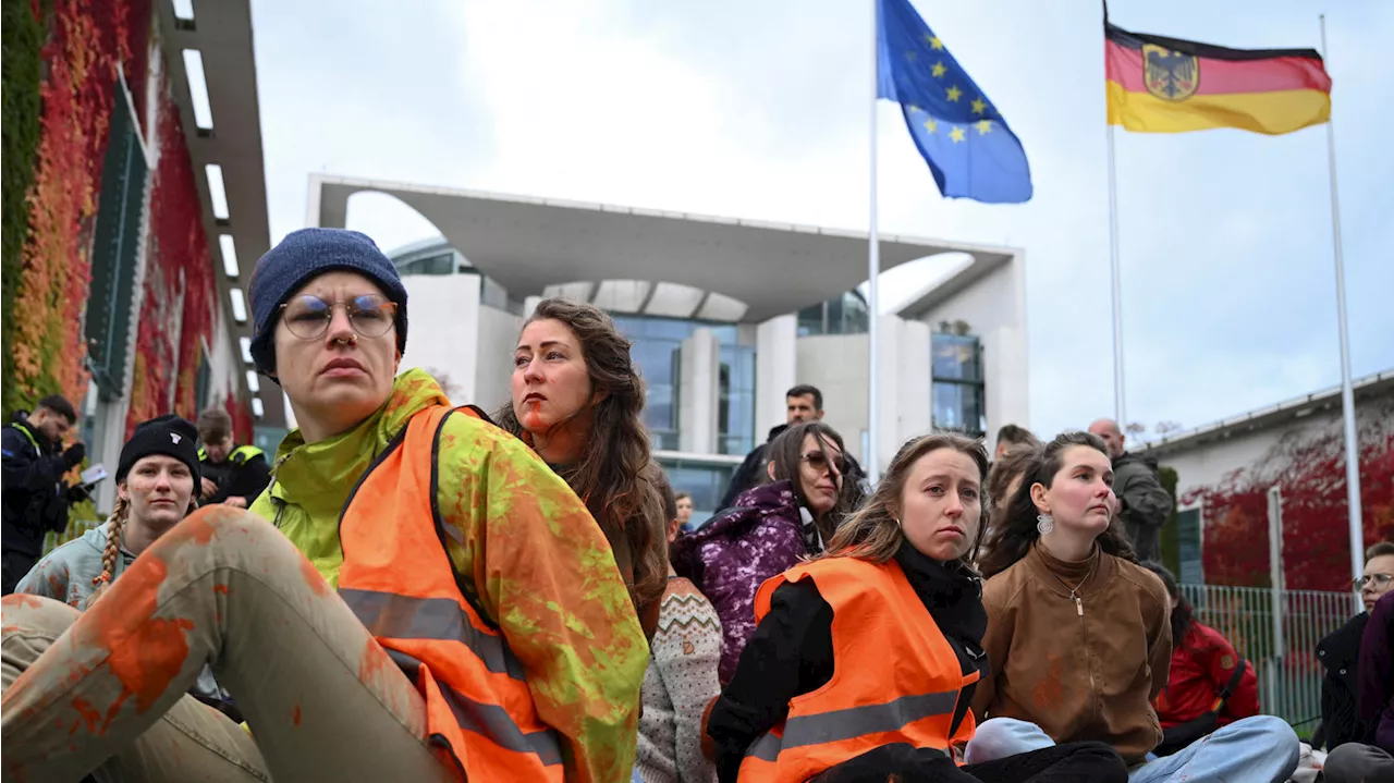
[[[474,651],[489,672],[524,679],[523,663],[503,638],[471,626],[454,600],[348,588],[340,588],[339,596],[375,637],[457,641]]]

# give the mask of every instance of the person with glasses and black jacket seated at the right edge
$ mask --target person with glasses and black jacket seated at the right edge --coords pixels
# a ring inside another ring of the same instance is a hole
[[[1313,734],[1312,744],[1328,751],[1345,743],[1369,741],[1373,731],[1372,726],[1356,716],[1361,637],[1374,602],[1394,588],[1394,542],[1381,541],[1365,550],[1365,575],[1355,580],[1354,587],[1361,594],[1365,612],[1347,620],[1316,645],[1316,656],[1322,659],[1326,676],[1322,677],[1320,737]]]

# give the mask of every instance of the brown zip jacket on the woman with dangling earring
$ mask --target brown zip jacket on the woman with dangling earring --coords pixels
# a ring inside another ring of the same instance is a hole
[[[1078,602],[1061,581],[1079,585]],[[987,581],[983,605],[993,674],[973,698],[979,722],[1016,718],[1057,743],[1108,743],[1129,765],[1157,747],[1151,701],[1171,666],[1171,599],[1156,574],[1097,548],[1065,563],[1037,543]]]

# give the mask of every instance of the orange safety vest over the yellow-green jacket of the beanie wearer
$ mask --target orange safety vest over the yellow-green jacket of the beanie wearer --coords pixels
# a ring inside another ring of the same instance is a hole
[[[435,451],[452,412],[411,418],[358,481],[339,520],[339,595],[427,704],[427,736],[467,780],[562,782],[556,733],[523,666],[464,598],[436,509]]]

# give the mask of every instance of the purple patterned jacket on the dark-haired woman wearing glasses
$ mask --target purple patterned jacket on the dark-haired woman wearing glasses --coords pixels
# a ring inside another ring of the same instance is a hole
[[[722,684],[756,633],[756,591],[809,555],[802,529],[793,485],[779,481],[742,492],[736,507],[673,543],[673,570],[691,580],[721,617]]]

